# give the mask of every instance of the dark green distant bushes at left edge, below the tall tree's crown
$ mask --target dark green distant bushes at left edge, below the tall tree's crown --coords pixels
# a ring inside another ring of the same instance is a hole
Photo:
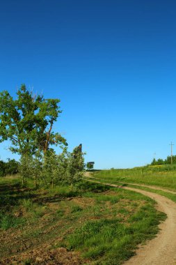
[[[0,176],[14,175],[19,172],[19,162],[9,159],[7,162],[0,160]]]

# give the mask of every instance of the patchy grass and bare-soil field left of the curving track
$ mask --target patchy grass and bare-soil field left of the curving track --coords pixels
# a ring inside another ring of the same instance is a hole
[[[0,181],[0,264],[122,264],[166,216],[136,192],[83,181],[53,190]]]

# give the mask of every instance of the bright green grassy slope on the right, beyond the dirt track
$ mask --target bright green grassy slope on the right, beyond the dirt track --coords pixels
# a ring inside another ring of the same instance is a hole
[[[176,190],[176,165],[134,167],[133,169],[109,169],[93,172],[93,176],[109,181],[158,185]]]

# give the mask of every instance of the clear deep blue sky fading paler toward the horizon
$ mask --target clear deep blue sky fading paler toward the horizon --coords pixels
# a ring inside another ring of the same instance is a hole
[[[60,98],[56,130],[96,168],[176,153],[176,1],[6,0],[0,90]],[[1,159],[13,158],[8,142]]]

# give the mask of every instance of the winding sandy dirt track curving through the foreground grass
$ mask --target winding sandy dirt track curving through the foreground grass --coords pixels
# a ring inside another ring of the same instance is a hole
[[[93,180],[89,180],[93,181]],[[93,181],[100,183],[99,181]],[[102,182],[101,182],[102,183]],[[166,213],[166,221],[159,225],[161,229],[157,237],[142,245],[136,250],[136,255],[131,257],[125,265],[174,265],[176,264],[176,204],[170,199],[153,192],[137,188],[123,187],[110,183],[102,183],[112,187],[133,190],[157,202],[157,209]]]

